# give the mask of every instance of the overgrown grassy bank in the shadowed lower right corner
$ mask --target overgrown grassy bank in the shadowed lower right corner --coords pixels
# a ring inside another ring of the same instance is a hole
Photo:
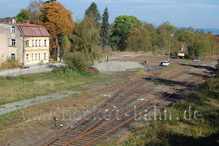
[[[161,112],[161,120],[154,120],[154,117],[152,121],[142,120],[135,123],[133,132],[100,145],[216,146],[219,136],[219,73],[186,94],[184,100],[164,110],[171,112],[171,119],[167,114],[165,120],[164,112]]]

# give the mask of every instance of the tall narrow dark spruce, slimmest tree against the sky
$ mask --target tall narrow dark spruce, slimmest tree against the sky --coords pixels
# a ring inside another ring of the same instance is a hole
[[[108,45],[108,41],[109,41],[109,13],[108,13],[108,9],[106,7],[106,9],[104,10],[103,13],[103,22],[102,22],[102,26],[101,26],[101,32],[100,32],[100,36],[102,38],[102,49],[104,50],[104,46]]]

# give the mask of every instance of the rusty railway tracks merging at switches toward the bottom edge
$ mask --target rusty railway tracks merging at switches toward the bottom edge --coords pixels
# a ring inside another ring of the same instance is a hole
[[[204,73],[189,77],[184,82],[145,101],[136,99],[146,97],[146,94],[154,90],[157,83],[149,82],[145,78],[138,79],[120,89],[93,113],[46,145],[92,145],[101,138],[133,122],[144,114],[145,110],[150,110],[172,95],[199,81],[203,75]],[[133,105],[136,106],[130,108]]]

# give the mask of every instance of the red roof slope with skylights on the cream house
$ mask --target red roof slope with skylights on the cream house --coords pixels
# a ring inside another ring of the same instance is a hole
[[[26,37],[50,37],[50,34],[44,26],[35,24],[15,24],[21,28]]]

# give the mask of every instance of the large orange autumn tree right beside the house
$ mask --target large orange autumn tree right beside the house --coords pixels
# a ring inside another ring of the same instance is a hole
[[[39,24],[43,24],[48,32],[50,33],[52,39],[51,44],[56,44],[57,60],[60,60],[60,46],[58,43],[58,38],[61,35],[69,35],[73,32],[74,21],[72,17],[72,12],[67,10],[61,3],[50,2],[42,5],[40,7]],[[53,47],[53,46],[51,46]],[[50,48],[52,50],[52,48]]]

